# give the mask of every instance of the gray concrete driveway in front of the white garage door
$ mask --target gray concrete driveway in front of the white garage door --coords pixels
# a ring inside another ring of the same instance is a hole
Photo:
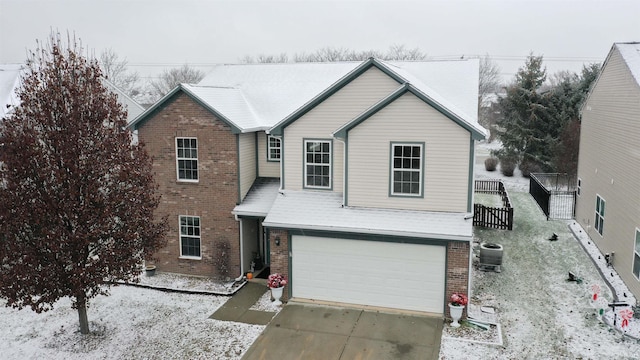
[[[242,358],[437,359],[442,325],[438,317],[290,303]]]

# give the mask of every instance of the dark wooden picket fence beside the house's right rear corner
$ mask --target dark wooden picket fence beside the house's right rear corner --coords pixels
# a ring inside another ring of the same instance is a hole
[[[473,204],[473,226],[513,230],[513,206],[500,180],[476,180],[475,192],[500,195],[502,207]]]

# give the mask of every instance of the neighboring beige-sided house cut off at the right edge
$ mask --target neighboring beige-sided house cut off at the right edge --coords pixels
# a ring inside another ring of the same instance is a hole
[[[576,220],[640,298],[640,43],[616,43],[582,106]],[[621,299],[624,301],[624,299]]]

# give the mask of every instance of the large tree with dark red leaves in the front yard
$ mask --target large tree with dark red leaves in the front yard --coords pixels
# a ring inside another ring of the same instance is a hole
[[[0,297],[40,313],[68,296],[87,334],[89,299],[135,282],[166,226],[151,159],[81,53],[59,34],[39,44],[0,120]]]

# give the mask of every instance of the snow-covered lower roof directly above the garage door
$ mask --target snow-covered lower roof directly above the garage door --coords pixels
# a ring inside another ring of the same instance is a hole
[[[343,207],[340,193],[282,191],[263,225],[470,241],[472,221],[465,219],[466,216],[465,213]]]

